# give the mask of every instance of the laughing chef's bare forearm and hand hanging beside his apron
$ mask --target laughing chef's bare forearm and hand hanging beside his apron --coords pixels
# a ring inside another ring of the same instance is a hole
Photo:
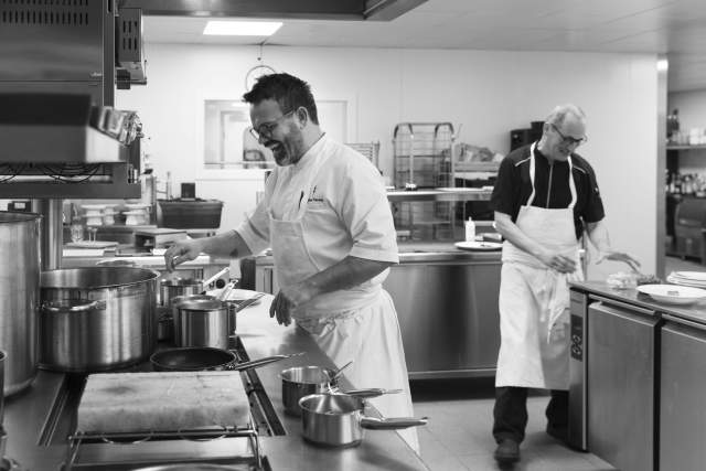
[[[325,270],[281,289],[269,308],[269,317],[277,315],[278,323],[289,325],[291,311],[298,306],[319,295],[361,285],[392,265],[394,264],[391,261],[368,260],[349,255]]]

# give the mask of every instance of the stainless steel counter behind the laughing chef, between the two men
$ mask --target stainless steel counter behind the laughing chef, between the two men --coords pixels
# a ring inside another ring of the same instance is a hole
[[[491,376],[500,347],[501,253],[450,242],[400,243],[392,296],[413,379]],[[255,289],[277,292],[270,255],[255,257]]]

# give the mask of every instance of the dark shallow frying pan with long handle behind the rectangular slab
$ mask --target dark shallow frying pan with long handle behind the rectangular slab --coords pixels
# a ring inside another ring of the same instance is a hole
[[[237,363],[235,354],[228,350],[210,346],[190,346],[168,349],[150,356],[152,367],[158,372],[200,372],[200,371],[243,371],[265,366],[280,360],[299,356],[303,353],[265,356],[250,362]]]

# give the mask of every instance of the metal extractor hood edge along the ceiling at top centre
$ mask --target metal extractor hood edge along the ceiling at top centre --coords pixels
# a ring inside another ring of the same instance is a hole
[[[120,0],[158,17],[243,17],[391,21],[427,0]]]

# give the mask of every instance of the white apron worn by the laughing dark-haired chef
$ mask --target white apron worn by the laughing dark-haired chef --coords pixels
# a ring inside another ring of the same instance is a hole
[[[312,167],[308,189],[321,170],[325,158],[319,157]],[[304,232],[302,224],[307,203],[301,204],[297,217],[282,221],[269,212],[269,233],[277,267],[278,281],[285,288],[323,270],[317,266],[308,247],[320,247]],[[341,291],[339,291],[341,292]],[[372,292],[357,293],[343,290],[335,309],[331,297],[322,297],[308,303],[306,312],[295,312],[297,324],[311,334],[319,347],[341,367],[350,361],[345,376],[356,388],[382,387],[403,389],[371,399],[385,417],[413,417],[411,394],[405,363],[397,313],[389,295],[377,286]],[[327,309],[330,309],[327,311]],[[419,453],[417,431],[414,428],[398,430],[405,441]]]

